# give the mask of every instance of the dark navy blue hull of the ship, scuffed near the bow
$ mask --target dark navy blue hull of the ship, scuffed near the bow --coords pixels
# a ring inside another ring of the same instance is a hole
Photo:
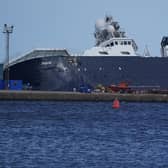
[[[23,80],[33,90],[77,90],[81,85],[168,89],[168,58],[121,56],[49,56],[10,66],[10,79]]]

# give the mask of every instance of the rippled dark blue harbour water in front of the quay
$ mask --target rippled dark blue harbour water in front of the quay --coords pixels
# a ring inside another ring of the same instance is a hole
[[[167,168],[168,104],[1,101],[0,167]]]

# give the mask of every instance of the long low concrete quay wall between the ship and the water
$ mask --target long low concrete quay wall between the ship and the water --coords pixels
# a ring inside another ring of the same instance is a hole
[[[168,102],[168,94],[114,94],[57,91],[0,91],[0,100]]]

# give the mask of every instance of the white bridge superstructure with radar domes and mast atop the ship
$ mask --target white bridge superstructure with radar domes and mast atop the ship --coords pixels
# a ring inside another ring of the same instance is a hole
[[[137,45],[121,31],[118,22],[111,16],[95,24],[95,47],[84,52],[85,56],[137,56]]]

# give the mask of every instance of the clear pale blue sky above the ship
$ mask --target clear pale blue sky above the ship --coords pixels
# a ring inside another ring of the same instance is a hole
[[[3,25],[13,25],[10,59],[35,48],[83,53],[95,45],[97,19],[111,15],[143,54],[160,56],[168,35],[167,0],[0,0],[0,61],[5,59]]]

